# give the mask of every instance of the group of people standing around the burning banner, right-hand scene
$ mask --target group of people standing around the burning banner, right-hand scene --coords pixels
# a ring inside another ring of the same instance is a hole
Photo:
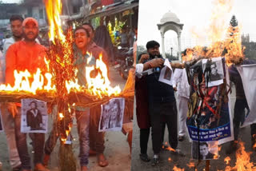
[[[142,161],[151,161],[151,165],[157,165],[161,149],[166,149],[164,143],[165,128],[167,125],[169,132],[169,143],[171,153],[181,153],[177,149],[178,141],[183,141],[186,137],[186,117],[188,113],[188,102],[190,101],[190,84],[184,63],[186,58],[191,54],[193,58],[198,58],[194,50],[184,50],[182,53],[182,64],[170,63],[174,69],[173,85],[167,85],[159,82],[160,72],[163,68],[163,58],[159,52],[159,43],[150,41],[146,43],[145,54],[138,54],[138,64],[136,65],[135,78],[135,95],[136,95],[136,115],[138,127],[140,129],[140,159]],[[190,54],[187,54],[189,52]],[[191,55],[190,55],[191,56]],[[245,59],[242,64],[254,63]],[[154,69],[160,68],[160,72]],[[210,63],[210,82],[223,79],[223,75],[218,72],[216,62]],[[238,133],[239,127],[245,118],[245,109],[249,109],[246,96],[242,86],[242,79],[235,66],[228,68],[230,74],[230,82],[234,82],[236,89],[236,101],[234,105],[234,141],[231,141],[226,153],[234,153],[238,149]],[[177,96],[174,96],[176,92]],[[176,106],[176,101],[178,105]],[[178,107],[178,109],[177,109]],[[178,117],[178,118],[177,118]],[[215,117],[210,117],[209,123],[212,128],[217,122]],[[179,125],[179,128],[178,128]],[[256,124],[250,125],[252,145],[256,143]],[[152,145],[154,156],[150,159],[147,155],[147,145],[150,136],[152,137]],[[201,142],[200,142],[201,143]],[[206,152],[207,151],[207,152]],[[212,159],[213,154],[209,152],[207,143],[201,143],[198,153],[200,159]]]

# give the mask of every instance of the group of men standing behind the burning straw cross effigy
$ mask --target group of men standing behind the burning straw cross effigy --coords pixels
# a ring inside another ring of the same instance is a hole
[[[12,37],[7,38],[3,44],[1,56],[1,83],[14,85],[14,70],[28,70],[34,74],[37,68],[46,71],[47,48],[37,41],[39,26],[34,18],[25,18],[13,15],[10,18]],[[89,55],[93,55],[90,62],[87,62]],[[74,30],[74,67],[78,69],[78,84],[86,85],[86,66],[94,66],[96,59],[102,54],[102,60],[106,64],[109,54],[102,47],[94,42],[94,27],[90,23],[83,23]],[[94,73],[97,71],[94,70]],[[91,73],[92,74],[92,73]],[[33,106],[32,106],[33,105]],[[30,171],[30,153],[28,152],[26,133],[21,133],[21,104],[2,103],[1,114],[3,129],[6,134],[10,166],[15,170]],[[38,117],[39,125],[42,125],[42,117],[36,112],[36,105],[31,104],[31,111],[27,113],[27,124],[34,128],[30,117]],[[32,111],[33,110],[33,111]],[[104,155],[105,133],[98,132],[98,124],[101,113],[98,110],[76,106],[76,119],[78,123],[79,157],[81,170],[87,170],[89,155],[95,154],[98,157],[98,165],[106,167],[108,161]],[[98,117],[96,123],[92,121],[90,114]],[[39,121],[40,120],[40,121]],[[50,136],[45,141],[44,133],[30,133],[31,145],[34,149],[34,170],[47,171],[50,154],[58,141],[58,133],[52,129]],[[1,155],[1,153],[0,153]]]

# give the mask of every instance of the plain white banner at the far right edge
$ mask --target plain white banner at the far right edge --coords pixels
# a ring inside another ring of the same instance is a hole
[[[249,105],[249,111],[245,113],[245,121],[242,127],[256,123],[256,64],[237,66],[242,78],[243,89]]]

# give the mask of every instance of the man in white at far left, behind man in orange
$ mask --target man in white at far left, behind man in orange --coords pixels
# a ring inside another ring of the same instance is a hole
[[[10,29],[13,34],[11,38],[7,38],[3,45],[3,55],[1,62],[1,77],[0,83],[6,82],[6,51],[14,42],[21,41],[23,38],[22,30],[23,18],[19,15],[12,15],[10,17]],[[13,170],[21,168],[21,161],[18,156],[18,150],[15,140],[14,117],[8,113],[6,106],[2,106],[2,123],[6,133],[6,140],[9,148],[10,166]]]

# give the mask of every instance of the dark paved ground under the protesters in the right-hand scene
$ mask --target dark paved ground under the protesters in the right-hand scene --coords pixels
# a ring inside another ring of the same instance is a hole
[[[233,91],[235,92],[235,90]],[[233,93],[235,94],[235,93]],[[231,102],[232,102],[232,109],[234,109],[234,100],[235,97],[232,94],[231,96]],[[184,153],[186,156],[181,157],[177,156],[174,154],[171,154],[169,151],[162,151],[161,155],[161,161],[158,166],[152,167],[149,163],[145,163],[139,159],[139,153],[140,153],[140,148],[139,148],[139,129],[135,117],[135,111],[134,111],[134,137],[133,137],[133,149],[132,149],[132,161],[131,161],[131,170],[132,171],[166,171],[166,170],[174,170],[174,165],[176,165],[180,169],[184,170],[194,170],[190,169],[188,167],[188,164],[190,161],[192,161],[191,158],[191,149],[190,149],[190,142],[188,141],[188,138],[186,138],[185,141],[179,142],[178,143],[178,149],[182,150],[182,153]],[[167,133],[168,130],[166,129],[166,134],[165,134],[165,141],[168,141],[167,139]],[[242,128],[239,137],[242,139],[242,141],[245,142],[246,145],[246,151],[252,151],[251,149],[251,141],[250,141],[250,126],[246,128]],[[210,161],[210,170],[224,170],[226,168],[226,164],[224,162],[224,158],[226,157],[226,148],[230,145],[230,143],[226,143],[221,145],[222,149],[219,152],[220,158],[218,160]],[[148,154],[150,157],[153,155],[153,150],[152,150],[152,143],[151,143],[151,137],[148,145]],[[171,161],[168,161],[168,158],[171,159]],[[235,154],[233,153],[230,155],[231,158],[231,166],[235,165]],[[253,152],[250,154],[250,162],[254,162],[254,165],[256,165],[256,153]],[[196,164],[198,164],[198,161],[194,161]],[[198,165],[198,170],[204,170],[206,165],[206,161],[202,161]],[[256,168],[255,168],[256,170]]]

